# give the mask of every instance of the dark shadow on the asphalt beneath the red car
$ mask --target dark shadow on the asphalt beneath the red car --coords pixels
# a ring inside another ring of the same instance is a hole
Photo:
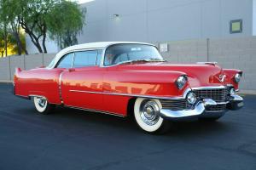
[[[80,125],[93,124],[97,128],[102,130],[118,130],[119,133],[143,133],[137,122],[135,122],[133,116],[119,117],[110,116],[102,113],[96,113],[92,111],[80,111],[71,108],[57,107],[55,113],[50,116],[57,119],[66,119],[70,123],[80,123]],[[210,133],[221,133],[231,130],[229,124],[222,122],[220,119],[218,122],[172,122],[172,128],[165,135],[166,136],[194,136],[194,135],[207,135]]]

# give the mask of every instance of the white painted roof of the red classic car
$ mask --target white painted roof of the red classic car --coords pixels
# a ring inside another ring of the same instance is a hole
[[[108,48],[108,46],[110,46],[110,45],[120,44],[120,43],[139,43],[139,44],[153,45],[153,44],[145,43],[145,42],[90,42],[90,43],[82,43],[82,44],[79,44],[79,45],[73,45],[73,46],[70,46],[68,48],[62,49],[58,54],[56,54],[55,59],[54,59],[55,60],[54,65],[50,65],[48,68],[54,67],[56,65],[56,63],[58,62],[58,60],[61,59],[61,57],[64,54],[67,54],[69,52],[79,50],[79,49]]]

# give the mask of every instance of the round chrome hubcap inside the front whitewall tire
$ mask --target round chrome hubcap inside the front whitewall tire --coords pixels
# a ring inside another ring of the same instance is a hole
[[[152,100],[145,100],[140,107],[140,116],[146,124],[153,126],[160,117],[160,108]]]

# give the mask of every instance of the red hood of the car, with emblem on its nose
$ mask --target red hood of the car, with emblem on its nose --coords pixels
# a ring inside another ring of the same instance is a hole
[[[224,85],[220,75],[223,70],[218,65],[207,64],[171,64],[167,62],[151,62],[119,65],[123,71],[180,71],[189,77],[189,86],[191,88],[201,86],[219,86]]]

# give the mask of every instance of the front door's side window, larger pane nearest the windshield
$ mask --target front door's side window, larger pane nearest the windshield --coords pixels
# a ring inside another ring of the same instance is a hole
[[[97,50],[76,52],[73,67],[93,66],[96,65]]]

